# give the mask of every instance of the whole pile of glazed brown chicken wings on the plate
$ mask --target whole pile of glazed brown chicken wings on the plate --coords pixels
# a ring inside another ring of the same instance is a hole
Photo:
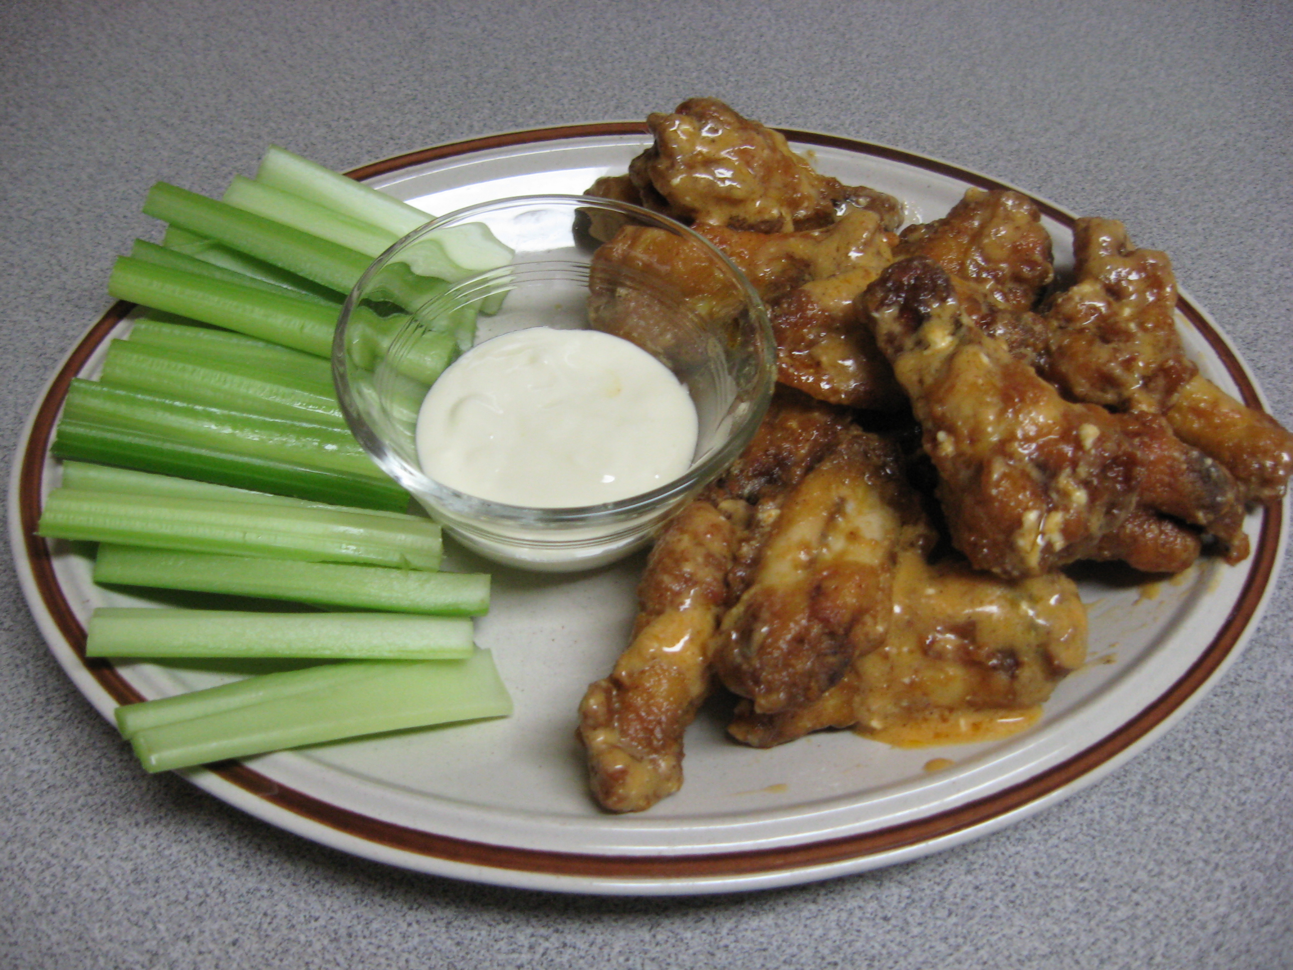
[[[1036,709],[1086,653],[1062,566],[1248,555],[1246,508],[1284,494],[1293,436],[1186,357],[1164,253],[1080,219],[1060,285],[1019,193],[970,189],[899,232],[897,199],[817,173],[719,101],[648,125],[650,147],[590,194],[667,213],[745,272],[778,388],[746,451],[658,537],[628,648],[583,698],[603,807],[679,789],[716,683],[738,698],[729,733],[754,746]],[[679,237],[591,232],[595,260],[729,312]],[[606,327],[632,336],[634,308],[601,297]]]

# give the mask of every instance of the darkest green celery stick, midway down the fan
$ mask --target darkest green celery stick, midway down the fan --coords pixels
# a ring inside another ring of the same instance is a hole
[[[122,466],[234,489],[290,495],[309,503],[403,512],[409,493],[389,479],[313,468],[173,441],[166,436],[63,418],[50,449],[56,458]]]

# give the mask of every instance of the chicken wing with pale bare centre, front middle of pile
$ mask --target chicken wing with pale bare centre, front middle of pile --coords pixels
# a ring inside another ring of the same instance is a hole
[[[780,503],[714,653],[754,710],[812,702],[883,643],[899,534],[918,513],[901,476],[892,445],[850,428]]]

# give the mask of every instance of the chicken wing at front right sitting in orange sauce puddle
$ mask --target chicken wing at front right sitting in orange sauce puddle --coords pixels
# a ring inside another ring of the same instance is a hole
[[[860,733],[931,713],[1033,707],[1086,657],[1086,610],[1063,573],[1007,582],[961,560],[899,552],[884,644],[812,704],[758,714],[742,702],[728,732],[772,748],[824,728]]]

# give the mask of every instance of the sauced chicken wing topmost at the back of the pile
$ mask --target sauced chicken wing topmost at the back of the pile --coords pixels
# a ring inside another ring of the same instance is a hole
[[[654,141],[628,176],[644,206],[684,222],[760,233],[817,229],[852,204],[874,210],[890,229],[901,224],[897,199],[818,175],[780,132],[715,98],[648,115],[646,125]]]

